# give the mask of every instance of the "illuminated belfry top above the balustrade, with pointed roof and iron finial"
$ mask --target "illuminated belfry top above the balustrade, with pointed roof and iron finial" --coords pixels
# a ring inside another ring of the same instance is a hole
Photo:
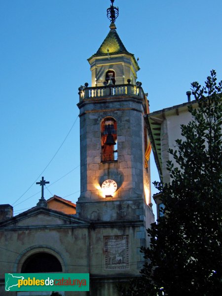
[[[127,84],[129,79],[136,85],[136,73],[140,70],[134,54],[126,49],[116,32],[114,22],[119,9],[113,6],[113,2],[111,0],[111,6],[107,9],[107,17],[111,21],[110,32],[96,53],[87,59],[91,66],[92,87],[103,86],[105,81],[109,81],[110,73],[113,74],[113,80],[110,80],[116,85]]]

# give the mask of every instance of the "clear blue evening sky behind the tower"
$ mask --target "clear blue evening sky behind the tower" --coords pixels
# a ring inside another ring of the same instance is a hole
[[[190,82],[203,84],[212,69],[222,79],[221,0],[114,4],[117,33],[140,58],[138,80],[150,111],[184,103]],[[15,214],[36,205],[38,176],[50,182],[45,198],[79,196],[77,93],[91,84],[87,58],[109,33],[109,6],[109,0],[0,0],[0,203],[14,204]],[[153,161],[151,172],[157,180]]]

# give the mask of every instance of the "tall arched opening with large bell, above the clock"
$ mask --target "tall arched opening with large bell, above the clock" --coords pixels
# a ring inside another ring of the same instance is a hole
[[[101,123],[101,161],[117,161],[117,123],[107,117]]]

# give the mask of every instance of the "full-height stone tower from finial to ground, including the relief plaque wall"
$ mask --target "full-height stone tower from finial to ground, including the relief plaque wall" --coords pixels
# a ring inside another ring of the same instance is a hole
[[[117,9],[113,6],[110,9]],[[115,13],[112,11],[112,16]],[[119,295],[117,284],[139,275],[154,222],[150,201],[147,97],[138,63],[116,32],[88,62],[92,86],[79,87],[81,193],[76,215],[90,221],[91,294]],[[100,267],[98,267],[98,264]]]

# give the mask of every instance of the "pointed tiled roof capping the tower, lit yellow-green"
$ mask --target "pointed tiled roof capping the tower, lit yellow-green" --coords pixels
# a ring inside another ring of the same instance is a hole
[[[107,37],[104,39],[103,43],[100,45],[97,52],[93,54],[88,60],[90,60],[92,57],[107,56],[108,49],[109,49],[109,55],[124,53],[132,56],[135,64],[138,67],[138,70],[140,70],[134,54],[127,51],[126,47],[124,46],[122,40],[118,36],[115,29],[110,30],[110,32],[108,33]]]

